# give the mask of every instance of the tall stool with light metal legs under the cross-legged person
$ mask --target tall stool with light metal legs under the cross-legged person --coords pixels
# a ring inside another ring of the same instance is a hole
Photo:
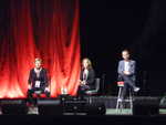
[[[116,103],[116,112],[117,113],[122,113],[122,110],[124,108],[124,104],[125,103],[129,103],[129,110],[132,111],[133,108],[133,93],[132,90],[128,90],[128,98],[126,100],[122,100],[122,90],[124,87],[124,81],[120,81],[117,82],[117,86],[118,86],[118,95],[117,95],[117,103]]]

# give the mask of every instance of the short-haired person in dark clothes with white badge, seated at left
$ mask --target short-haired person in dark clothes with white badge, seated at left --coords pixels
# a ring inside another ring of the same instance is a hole
[[[35,59],[34,65],[30,71],[29,75],[29,90],[28,90],[28,97],[31,100],[33,97],[33,93],[39,92],[39,96],[41,93],[45,93],[46,96],[50,96],[50,91],[49,91],[49,82],[48,82],[48,74],[46,70],[41,66],[42,60],[41,59]]]

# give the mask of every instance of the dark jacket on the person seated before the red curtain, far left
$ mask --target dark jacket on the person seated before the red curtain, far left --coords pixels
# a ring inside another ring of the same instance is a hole
[[[37,77],[37,73],[34,72],[34,69],[31,69],[28,83],[32,84],[32,87],[34,87],[35,81],[41,82],[41,87],[48,86],[48,73],[46,70],[42,67],[40,72],[40,76]]]

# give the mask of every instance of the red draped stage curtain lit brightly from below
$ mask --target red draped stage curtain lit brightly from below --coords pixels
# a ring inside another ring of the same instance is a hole
[[[79,0],[6,0],[0,20],[0,97],[25,97],[34,58],[51,77],[51,96],[74,95],[80,74]]]

